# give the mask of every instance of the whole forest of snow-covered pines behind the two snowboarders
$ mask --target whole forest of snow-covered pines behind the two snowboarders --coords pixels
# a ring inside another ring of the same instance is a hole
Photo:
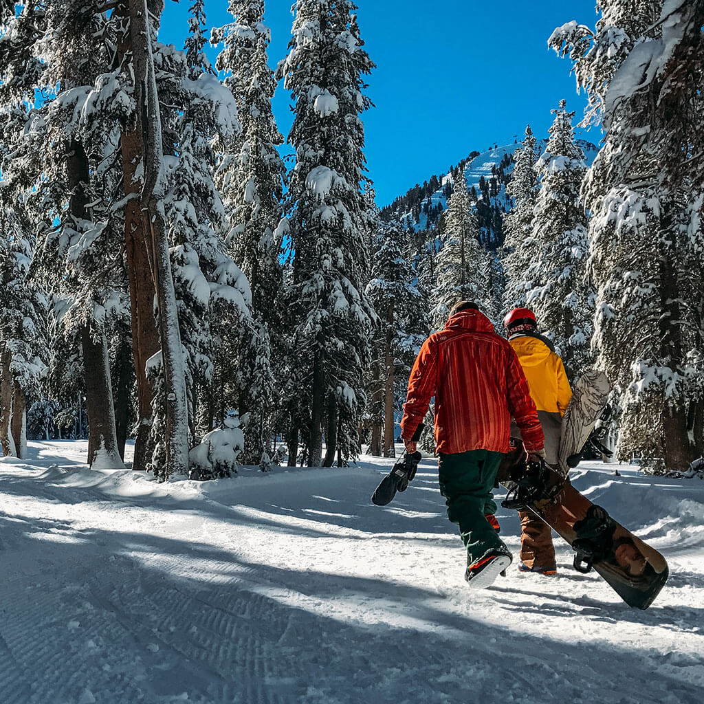
[[[210,36],[191,0],[182,49],[158,42],[163,6],[0,5],[4,455],[27,427],[85,432],[94,467],[134,437],[160,479],[393,455],[410,365],[460,298],[497,325],[530,306],[572,379],[603,368],[622,459],[702,453],[704,1],[609,0],[555,30],[603,129],[589,168],[562,101],[479,192],[465,160],[381,211],[353,2],[298,0],[276,70],[263,0]]]

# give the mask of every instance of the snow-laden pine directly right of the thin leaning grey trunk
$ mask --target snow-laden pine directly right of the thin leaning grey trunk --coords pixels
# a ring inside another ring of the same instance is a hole
[[[165,156],[170,183],[165,213],[185,351],[191,448],[199,444],[201,435],[225,422],[225,401],[228,408],[236,405],[236,397],[229,393],[232,383],[222,383],[217,392],[213,383],[215,379],[221,381],[220,367],[230,352],[231,339],[249,339],[251,327],[249,285],[225,253],[225,208],[214,181],[214,146],[222,148],[241,128],[232,94],[214,75],[203,53],[204,23],[203,2],[198,0],[190,8],[191,31],[185,51],[163,47],[156,55],[162,77],[158,85],[160,100],[169,106],[163,114],[174,139],[172,153]],[[227,367],[229,371],[230,365]],[[153,435],[157,445],[151,465],[158,474],[163,466],[158,436],[163,435],[164,414],[161,396],[156,401]],[[200,455],[191,449],[189,457],[192,460]],[[235,457],[232,454],[229,463],[213,465],[191,461],[190,476],[217,478],[218,472],[234,466]]]

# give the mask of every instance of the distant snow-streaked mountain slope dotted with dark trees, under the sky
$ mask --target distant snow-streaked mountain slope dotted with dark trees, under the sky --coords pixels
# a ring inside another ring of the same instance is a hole
[[[542,139],[536,144],[539,155],[545,151],[547,143],[546,139]],[[584,139],[577,139],[577,144],[584,151],[586,164],[591,165],[598,147]],[[382,208],[382,220],[398,218],[413,234],[414,240],[427,240],[428,236],[423,235],[429,235],[438,227],[442,213],[447,210],[455,178],[463,169],[467,191],[476,203],[480,239],[489,249],[496,249],[503,244],[503,215],[513,207],[506,187],[511,181],[515,164],[513,155],[521,146],[517,142],[497,145],[484,152],[473,151],[446,174],[434,175],[422,185],[416,184],[391,205]]]

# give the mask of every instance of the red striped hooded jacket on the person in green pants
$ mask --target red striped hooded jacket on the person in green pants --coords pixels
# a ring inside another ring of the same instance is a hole
[[[535,404],[516,353],[478,310],[463,310],[431,335],[408,379],[401,436],[413,437],[435,396],[439,453],[508,452],[510,419],[528,451],[543,447]]]

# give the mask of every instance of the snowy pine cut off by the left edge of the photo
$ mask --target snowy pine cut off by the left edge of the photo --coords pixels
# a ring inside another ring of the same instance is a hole
[[[39,163],[25,136],[30,100],[46,84],[35,49],[46,31],[44,8],[2,6],[0,27],[0,444],[4,455],[22,457],[27,395],[38,390],[47,359],[46,300],[27,277],[39,224],[39,196],[32,197]]]

